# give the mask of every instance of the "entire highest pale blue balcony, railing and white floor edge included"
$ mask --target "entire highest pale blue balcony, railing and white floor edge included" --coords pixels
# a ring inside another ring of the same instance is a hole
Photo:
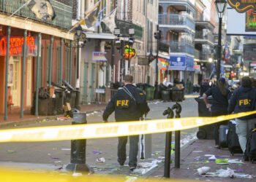
[[[158,21],[161,28],[179,32],[195,32],[195,21],[189,15],[164,13],[159,14]]]

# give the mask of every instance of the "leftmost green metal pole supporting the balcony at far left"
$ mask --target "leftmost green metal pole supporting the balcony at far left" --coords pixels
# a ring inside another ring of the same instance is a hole
[[[8,71],[9,71],[9,47],[10,47],[10,34],[11,27],[7,27],[7,58],[5,66],[5,92],[4,92],[4,121],[7,121],[8,116],[8,106],[7,106],[7,97],[8,97]]]

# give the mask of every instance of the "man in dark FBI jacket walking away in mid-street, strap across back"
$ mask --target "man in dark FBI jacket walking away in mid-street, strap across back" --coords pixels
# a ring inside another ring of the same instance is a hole
[[[103,121],[108,122],[108,116],[115,111],[116,122],[138,121],[143,114],[148,114],[150,109],[143,92],[138,90],[133,84],[133,76],[124,76],[124,87],[108,103],[102,115]],[[118,163],[123,166],[127,159],[126,146],[127,136],[118,137]],[[137,166],[139,135],[129,136],[129,169],[135,170]]]

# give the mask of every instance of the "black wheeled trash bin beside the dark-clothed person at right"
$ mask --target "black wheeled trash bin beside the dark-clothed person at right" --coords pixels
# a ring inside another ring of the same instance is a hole
[[[195,98],[198,103],[198,116],[203,116],[203,117],[210,117],[211,116],[211,111],[206,108],[206,104],[203,101],[203,97]],[[208,103],[211,103],[213,98],[212,96],[209,96],[207,98]],[[212,140],[214,139],[214,124],[208,124],[204,125],[202,127],[199,127],[199,131],[197,132],[197,138],[198,139],[208,139]]]

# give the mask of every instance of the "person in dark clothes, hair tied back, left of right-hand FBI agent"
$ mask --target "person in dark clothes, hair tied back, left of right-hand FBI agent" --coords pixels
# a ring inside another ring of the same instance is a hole
[[[211,108],[211,116],[222,116],[227,114],[228,100],[230,100],[231,92],[225,87],[224,78],[219,78],[216,87],[212,87],[203,93],[203,100],[207,108]],[[212,103],[209,104],[207,97],[212,95]],[[217,122],[214,124],[215,148],[219,148],[219,126],[226,124],[227,121]]]

